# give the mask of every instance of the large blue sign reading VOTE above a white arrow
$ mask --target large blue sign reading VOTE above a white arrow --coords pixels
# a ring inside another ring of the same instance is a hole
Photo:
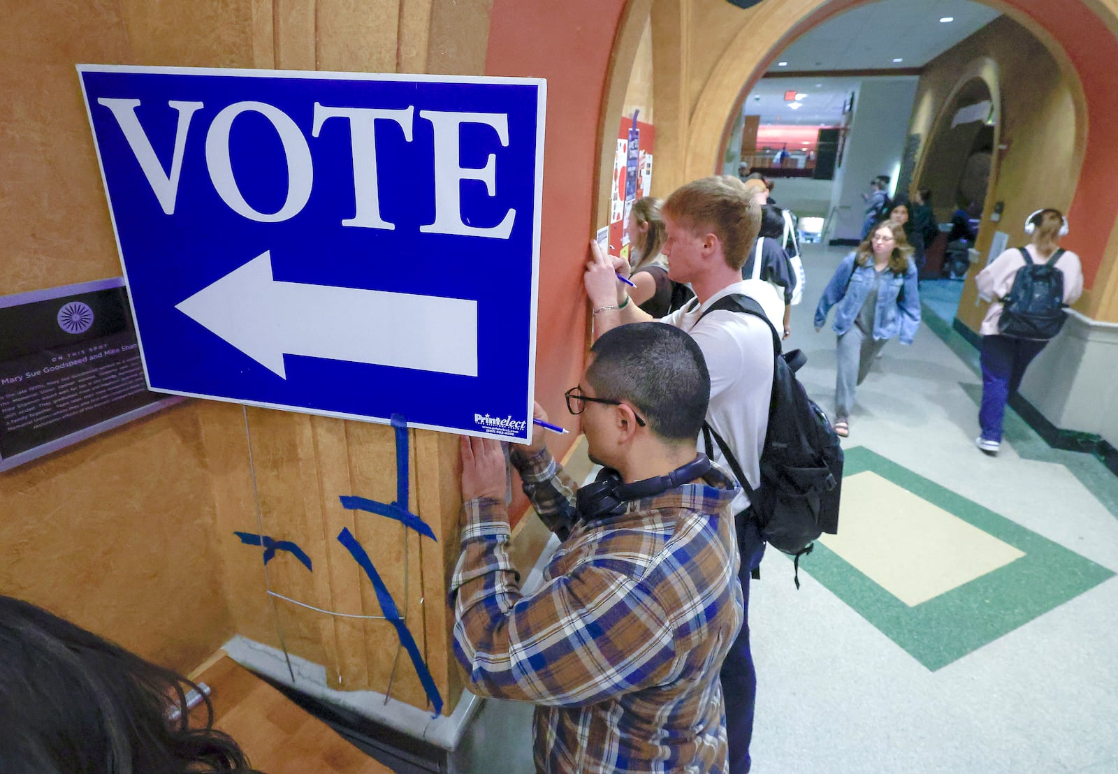
[[[543,81],[77,69],[152,390],[531,438]]]

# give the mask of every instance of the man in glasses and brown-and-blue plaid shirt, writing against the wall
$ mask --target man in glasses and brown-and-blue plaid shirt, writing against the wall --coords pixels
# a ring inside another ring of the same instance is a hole
[[[538,771],[724,772],[718,676],[742,617],[737,487],[695,454],[710,395],[702,352],[675,328],[624,325],[598,339],[567,395],[590,459],[619,479],[579,497],[539,434],[513,447],[525,493],[562,540],[525,596],[506,551],[501,445],[463,437],[455,655],[474,692],[539,705]],[[604,490],[616,499],[586,497]]]

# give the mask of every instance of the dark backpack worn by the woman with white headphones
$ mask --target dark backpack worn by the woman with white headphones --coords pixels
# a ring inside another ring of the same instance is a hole
[[[1063,255],[1058,249],[1044,263],[1033,263],[1029,251],[1018,247],[1025,265],[1013,277],[1013,287],[1002,299],[1002,318],[997,332],[1014,339],[1048,341],[1060,332],[1063,313],[1063,272],[1055,262]]]

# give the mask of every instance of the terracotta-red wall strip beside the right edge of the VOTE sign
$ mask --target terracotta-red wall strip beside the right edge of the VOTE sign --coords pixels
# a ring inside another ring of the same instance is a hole
[[[624,0],[495,0],[490,26],[486,75],[548,79],[536,397],[549,415],[572,428],[570,435],[549,438],[557,456],[577,432],[562,394],[582,371],[582,268],[596,228],[601,94],[624,7]]]

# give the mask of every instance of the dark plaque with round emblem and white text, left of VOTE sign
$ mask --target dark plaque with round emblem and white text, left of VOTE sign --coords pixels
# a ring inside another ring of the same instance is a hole
[[[0,471],[182,399],[144,384],[123,279],[0,298]]]

